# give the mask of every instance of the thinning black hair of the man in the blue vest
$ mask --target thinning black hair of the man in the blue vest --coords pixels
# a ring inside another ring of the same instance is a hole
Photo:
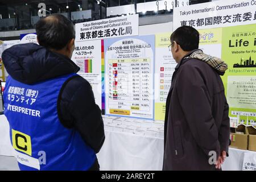
[[[71,39],[75,39],[75,30],[71,20],[61,14],[49,15],[36,23],[36,34],[40,46],[62,49]]]

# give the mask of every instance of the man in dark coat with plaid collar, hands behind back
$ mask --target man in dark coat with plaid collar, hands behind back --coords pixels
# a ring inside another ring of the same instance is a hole
[[[166,101],[163,170],[221,169],[229,146],[228,65],[199,48],[199,32],[183,26],[171,35],[177,62]]]

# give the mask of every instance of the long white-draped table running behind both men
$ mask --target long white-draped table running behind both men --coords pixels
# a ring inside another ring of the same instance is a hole
[[[104,117],[105,143],[97,154],[101,170],[162,170],[163,127],[161,123],[135,121],[133,119]],[[130,125],[130,126],[129,126]],[[13,156],[10,144],[9,124],[0,115],[0,155]],[[256,152],[229,149],[229,157],[223,170],[242,170],[246,152],[256,156]],[[9,168],[10,169],[10,168]]]

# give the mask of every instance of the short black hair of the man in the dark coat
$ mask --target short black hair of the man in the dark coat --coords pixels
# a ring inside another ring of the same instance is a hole
[[[193,51],[199,48],[199,32],[190,26],[179,27],[171,35],[171,43],[174,41],[183,51]]]

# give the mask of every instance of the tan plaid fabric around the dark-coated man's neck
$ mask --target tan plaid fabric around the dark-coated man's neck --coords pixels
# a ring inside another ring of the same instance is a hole
[[[205,63],[209,64],[211,67],[213,67],[214,69],[216,69],[218,72],[221,72],[221,73],[225,73],[225,71],[228,69],[228,64],[226,64],[220,58],[207,55],[200,49],[191,53],[191,55],[184,57],[184,59],[191,59],[191,58],[204,61]]]

